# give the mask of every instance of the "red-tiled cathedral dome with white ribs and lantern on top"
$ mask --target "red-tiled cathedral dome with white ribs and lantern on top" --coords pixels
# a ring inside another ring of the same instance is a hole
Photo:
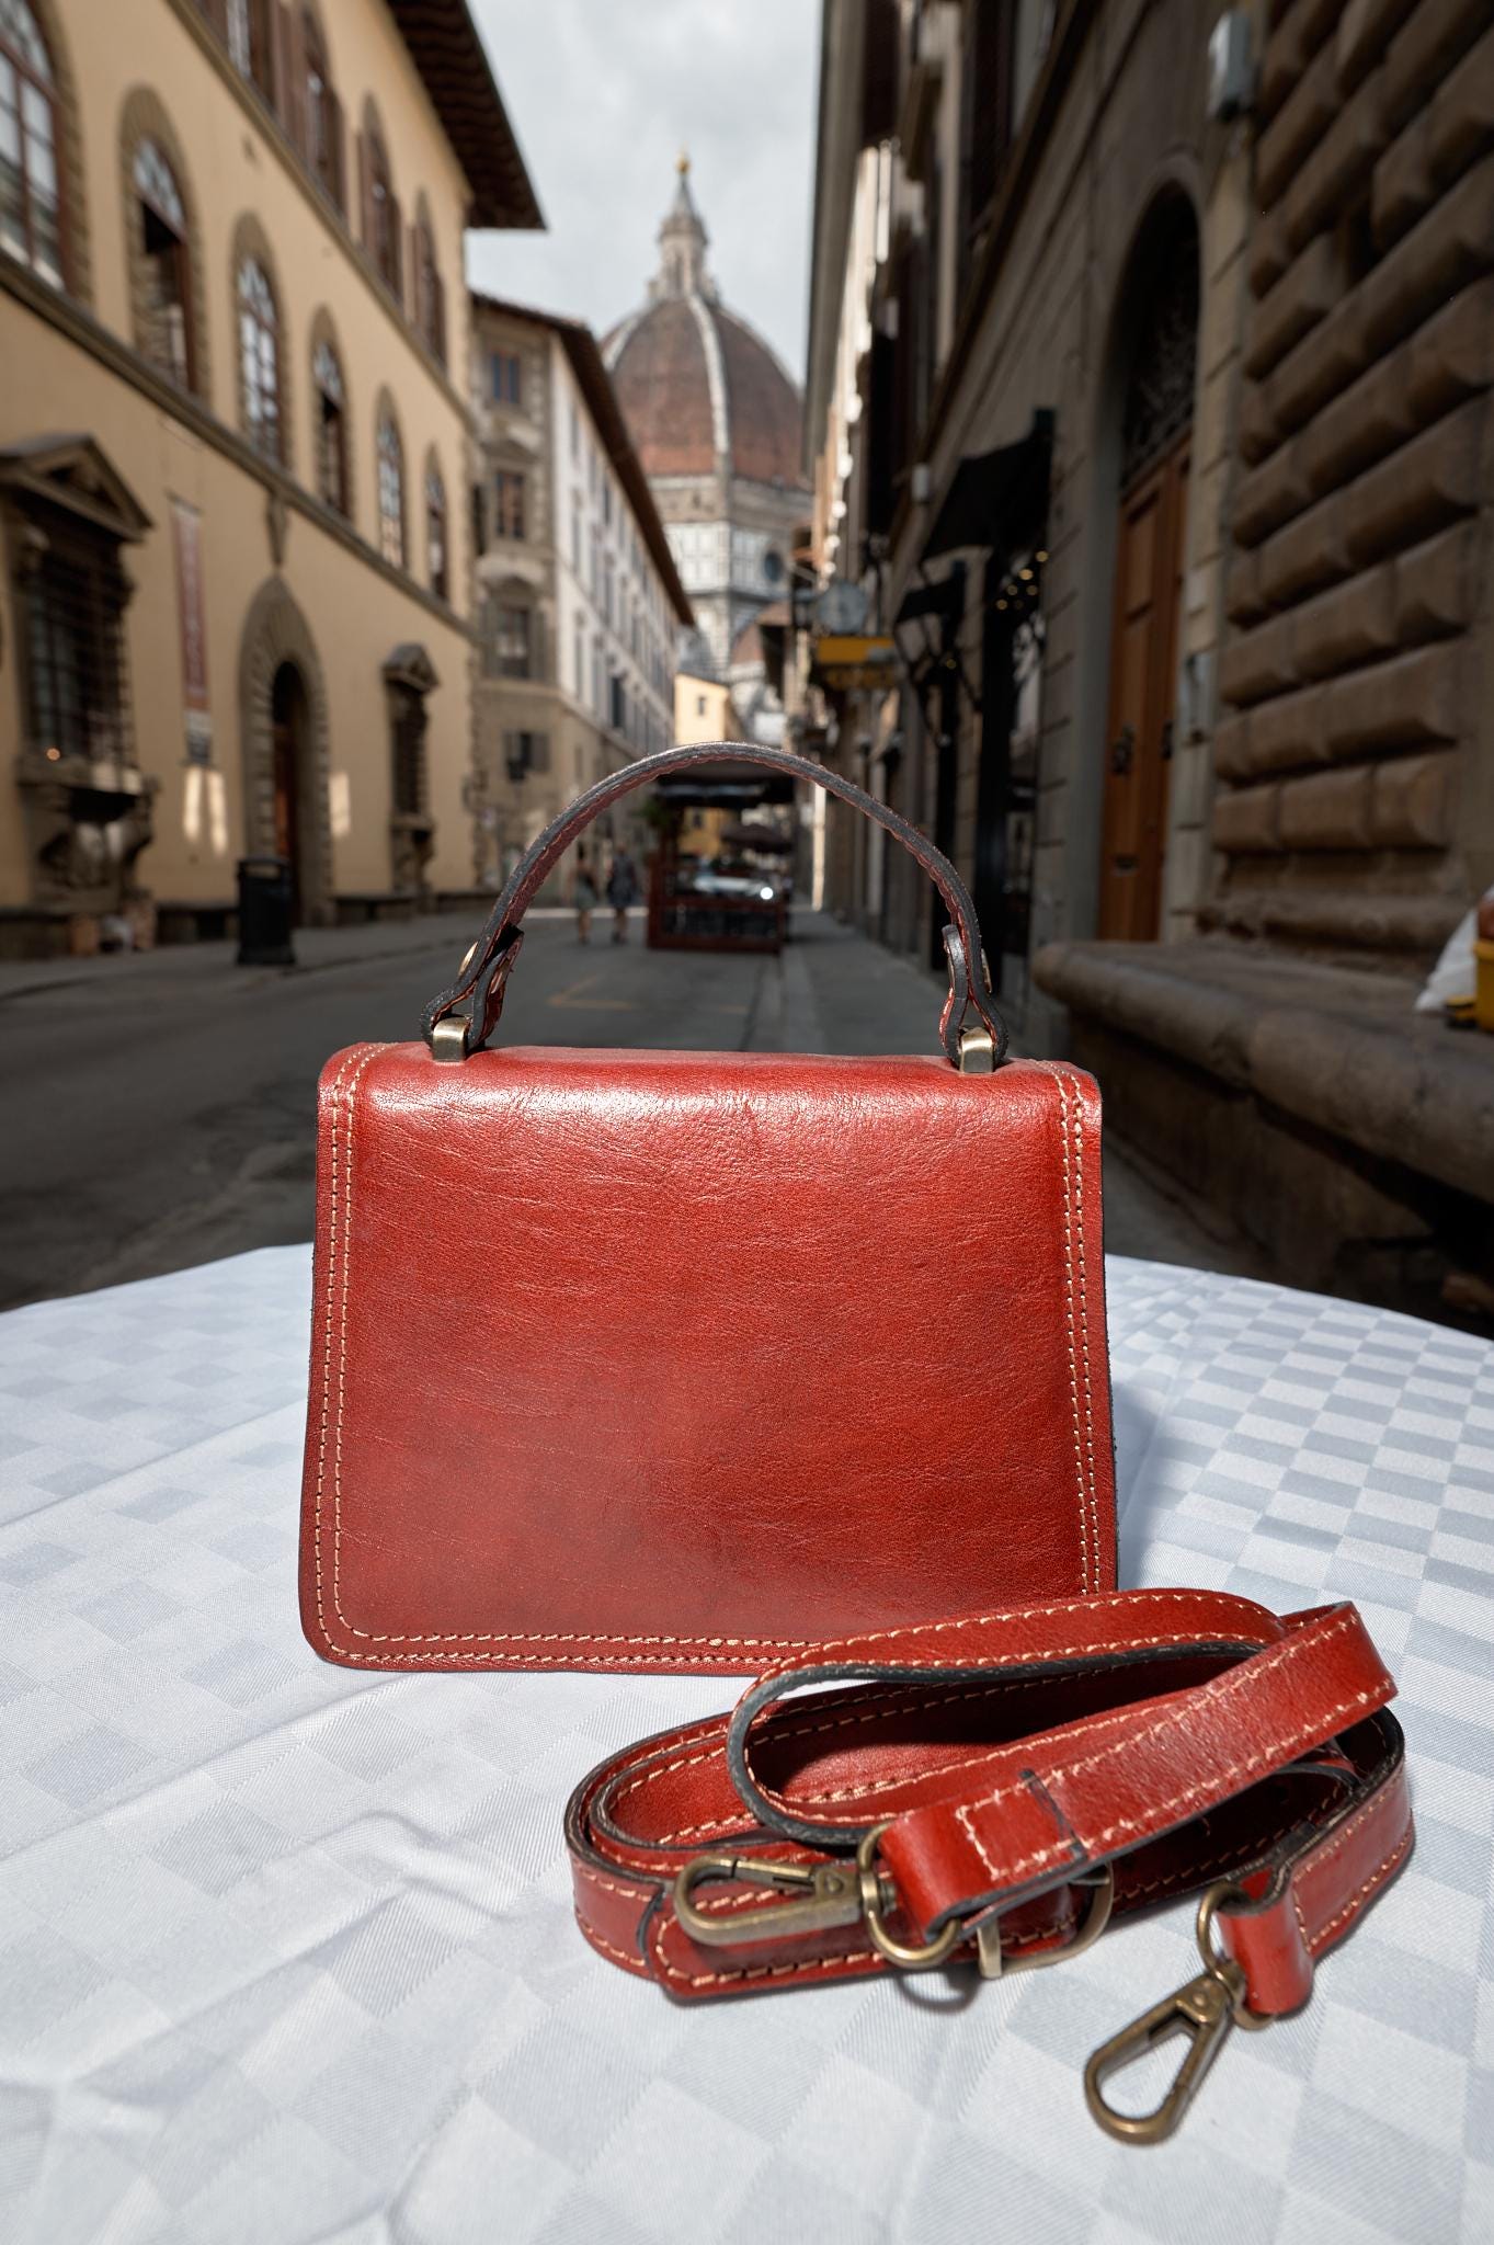
[[[704,247],[682,159],[651,301],[601,346],[628,436],[646,476],[711,474],[725,458],[751,483],[799,485],[799,388],[747,321],[725,310]]]

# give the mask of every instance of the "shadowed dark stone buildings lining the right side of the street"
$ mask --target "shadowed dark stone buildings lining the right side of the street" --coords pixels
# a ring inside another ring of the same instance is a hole
[[[1218,34],[1218,36],[1216,36]],[[965,871],[1034,1051],[1310,1284],[1494,1309],[1478,0],[826,0],[805,739]],[[828,891],[938,961],[832,806]]]

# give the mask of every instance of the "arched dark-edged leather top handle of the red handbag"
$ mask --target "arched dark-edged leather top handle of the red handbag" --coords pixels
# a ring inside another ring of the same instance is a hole
[[[839,772],[826,770],[823,763],[810,763],[808,757],[792,757],[785,748],[756,748],[747,741],[700,741],[691,748],[664,748],[655,757],[637,757],[619,772],[608,772],[594,788],[579,795],[570,810],[563,810],[538,842],[529,844],[509,873],[502,896],[489,911],[482,934],[462,959],[458,979],[426,1006],[419,1026],[431,1051],[440,1060],[469,1060],[482,1051],[502,1012],[502,990],[523,943],[520,920],[545,876],[565,855],[577,835],[585,833],[597,813],[606,810],[621,795],[646,788],[651,779],[660,779],[664,772],[691,770],[698,763],[760,763],[769,772],[808,779],[812,786],[826,788],[828,795],[839,795],[843,804],[866,813],[877,826],[886,826],[895,842],[902,842],[940,891],[951,920],[944,929],[949,997],[940,1015],[944,1057],[951,1066],[960,1066],[960,1028],[974,1006],[989,1030],[992,1066],[998,1069],[1007,1057],[1007,1026],[989,999],[976,907],[949,858],[895,810],[879,804],[875,795],[857,788],[855,781],[841,779]],[[442,1024],[446,1028],[437,1037]]]

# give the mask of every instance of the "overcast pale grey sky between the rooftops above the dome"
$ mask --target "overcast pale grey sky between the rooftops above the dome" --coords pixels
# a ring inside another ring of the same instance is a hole
[[[722,299],[803,379],[817,0],[471,0],[545,213],[478,233],[476,287],[588,319],[644,301],[675,157]]]

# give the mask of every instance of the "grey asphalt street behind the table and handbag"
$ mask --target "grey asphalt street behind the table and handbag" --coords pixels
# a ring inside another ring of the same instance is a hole
[[[471,941],[462,916],[303,932],[301,965],[229,945],[0,970],[0,1307],[312,1235],[314,1084],[361,1037],[413,1037]],[[821,914],[781,959],[644,950],[642,914],[581,947],[532,914],[511,1044],[931,1053],[940,990]],[[1106,1244],[1254,1268],[1115,1154]]]

